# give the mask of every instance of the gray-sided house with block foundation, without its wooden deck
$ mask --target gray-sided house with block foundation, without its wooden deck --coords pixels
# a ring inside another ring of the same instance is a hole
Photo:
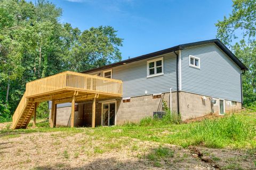
[[[118,79],[123,96],[97,100],[95,125],[139,122],[162,111],[166,101],[183,120],[210,112],[240,110],[243,103],[242,74],[248,70],[219,39],[181,44],[83,74]],[[178,93],[177,93],[178,92]],[[92,101],[75,105],[75,126],[92,125]],[[49,105],[51,109],[51,102]],[[57,125],[70,124],[70,103],[57,106]]]

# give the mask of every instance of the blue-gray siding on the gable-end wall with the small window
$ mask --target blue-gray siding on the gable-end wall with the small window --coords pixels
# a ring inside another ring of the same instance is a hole
[[[189,67],[189,55],[200,69]],[[181,51],[181,90],[241,102],[241,69],[214,43]]]

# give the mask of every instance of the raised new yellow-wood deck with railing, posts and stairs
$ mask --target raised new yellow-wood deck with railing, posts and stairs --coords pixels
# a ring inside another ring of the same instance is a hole
[[[92,119],[95,122],[96,99],[119,98],[122,97],[122,94],[123,83],[121,80],[77,72],[65,71],[38,79],[27,83],[26,92],[12,117],[12,128],[26,128],[31,117],[35,114],[38,104],[49,100],[52,101],[51,127],[54,127],[56,122],[56,105],[65,102],[72,103],[71,127],[74,127],[75,102],[93,101],[94,108],[92,110],[94,113],[92,111]],[[93,123],[92,126],[94,127]]]

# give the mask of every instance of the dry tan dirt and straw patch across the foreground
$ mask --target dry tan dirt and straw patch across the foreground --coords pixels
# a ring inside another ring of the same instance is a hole
[[[255,169],[253,151],[188,148],[70,131],[0,137],[0,169]],[[122,131],[116,130],[115,133]],[[196,156],[195,156],[196,155]],[[218,165],[218,166],[214,166]]]

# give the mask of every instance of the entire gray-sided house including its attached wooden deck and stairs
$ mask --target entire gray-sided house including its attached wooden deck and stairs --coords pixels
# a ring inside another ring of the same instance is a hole
[[[26,84],[12,128],[36,124],[40,102],[50,101],[50,127],[111,126],[163,111],[165,101],[183,120],[242,108],[248,70],[219,39],[181,44],[94,68],[65,71]]]

